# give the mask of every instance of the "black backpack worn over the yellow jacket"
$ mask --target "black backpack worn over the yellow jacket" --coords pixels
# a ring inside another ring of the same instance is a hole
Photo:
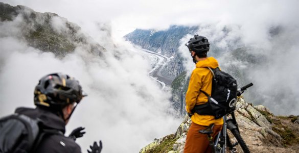
[[[237,81],[229,74],[221,71],[218,67],[207,67],[213,74],[212,95],[200,90],[208,96],[208,103],[196,105],[192,113],[200,115],[213,115],[215,119],[233,112],[236,109]]]

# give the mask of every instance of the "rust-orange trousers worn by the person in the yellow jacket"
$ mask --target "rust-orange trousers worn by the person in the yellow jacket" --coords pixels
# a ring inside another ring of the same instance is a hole
[[[198,125],[194,122],[191,123],[190,129],[187,134],[186,144],[184,148],[184,153],[204,153],[212,152],[209,146],[208,136],[206,134],[201,134],[198,131],[205,129],[207,126]],[[216,135],[221,131],[222,125],[215,125],[213,128],[213,141]]]

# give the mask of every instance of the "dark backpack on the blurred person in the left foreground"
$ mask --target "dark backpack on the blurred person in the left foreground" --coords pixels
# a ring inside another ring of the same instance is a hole
[[[43,129],[39,119],[20,114],[1,118],[0,133],[0,152],[35,152],[46,135],[63,135],[57,130]]]

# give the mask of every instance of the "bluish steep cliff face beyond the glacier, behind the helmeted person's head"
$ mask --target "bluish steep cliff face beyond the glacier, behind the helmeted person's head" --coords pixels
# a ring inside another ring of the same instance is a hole
[[[172,25],[165,31],[137,29],[124,37],[144,49],[166,57],[173,57],[173,60],[163,68],[161,73],[165,77],[174,80],[184,69],[181,57],[178,54],[179,40],[186,34],[194,33],[197,30],[198,27]]]

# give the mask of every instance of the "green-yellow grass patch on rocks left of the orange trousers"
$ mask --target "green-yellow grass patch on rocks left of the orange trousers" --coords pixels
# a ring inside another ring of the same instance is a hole
[[[162,142],[160,142],[158,145],[156,145],[155,147],[146,150],[146,153],[157,153],[157,152],[168,152],[173,150],[173,144],[175,143],[175,141],[178,138],[175,138],[173,134],[168,135],[166,137],[163,138]]]

